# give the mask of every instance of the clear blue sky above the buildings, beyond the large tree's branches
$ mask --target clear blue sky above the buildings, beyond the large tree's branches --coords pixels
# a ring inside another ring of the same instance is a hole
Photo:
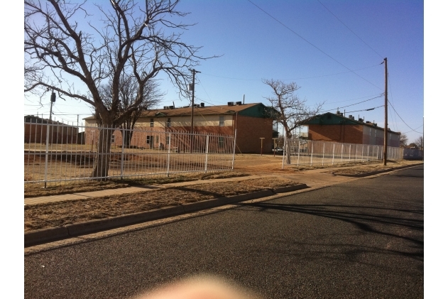
[[[258,6],[258,7],[257,7]],[[202,46],[204,60],[196,69],[195,102],[263,102],[271,88],[262,79],[296,82],[300,99],[311,107],[346,111],[384,126],[384,65],[388,58],[388,126],[409,137],[422,136],[423,1],[181,1],[190,12],[184,23],[186,43]],[[166,92],[159,107],[187,106],[175,87],[160,76]],[[372,99],[375,98],[375,99]],[[24,114],[47,114],[25,100]],[[366,109],[376,108],[371,111]],[[55,119],[77,121],[92,109],[75,100],[57,101]]]

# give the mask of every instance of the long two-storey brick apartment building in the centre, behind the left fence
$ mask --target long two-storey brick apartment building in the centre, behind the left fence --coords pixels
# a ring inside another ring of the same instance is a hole
[[[139,116],[133,131],[131,146],[138,148],[166,148],[169,132],[191,131],[191,107],[146,110]],[[234,136],[236,131],[236,153],[260,153],[261,138],[263,153],[271,153],[273,146],[273,117],[275,109],[262,103],[242,104],[229,102],[226,105],[193,108],[193,131],[200,134]],[[92,140],[97,126],[94,116],[87,117],[86,141]],[[121,131],[114,131],[112,142],[122,144]],[[219,141],[218,141],[219,143]]]

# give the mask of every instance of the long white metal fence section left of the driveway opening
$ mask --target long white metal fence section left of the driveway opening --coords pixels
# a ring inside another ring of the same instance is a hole
[[[103,136],[110,138],[110,143],[101,151],[99,138]],[[234,141],[234,136],[187,134],[166,128],[131,131],[26,119],[24,181],[46,184],[232,170]],[[95,163],[106,163],[107,175],[94,175]]]

